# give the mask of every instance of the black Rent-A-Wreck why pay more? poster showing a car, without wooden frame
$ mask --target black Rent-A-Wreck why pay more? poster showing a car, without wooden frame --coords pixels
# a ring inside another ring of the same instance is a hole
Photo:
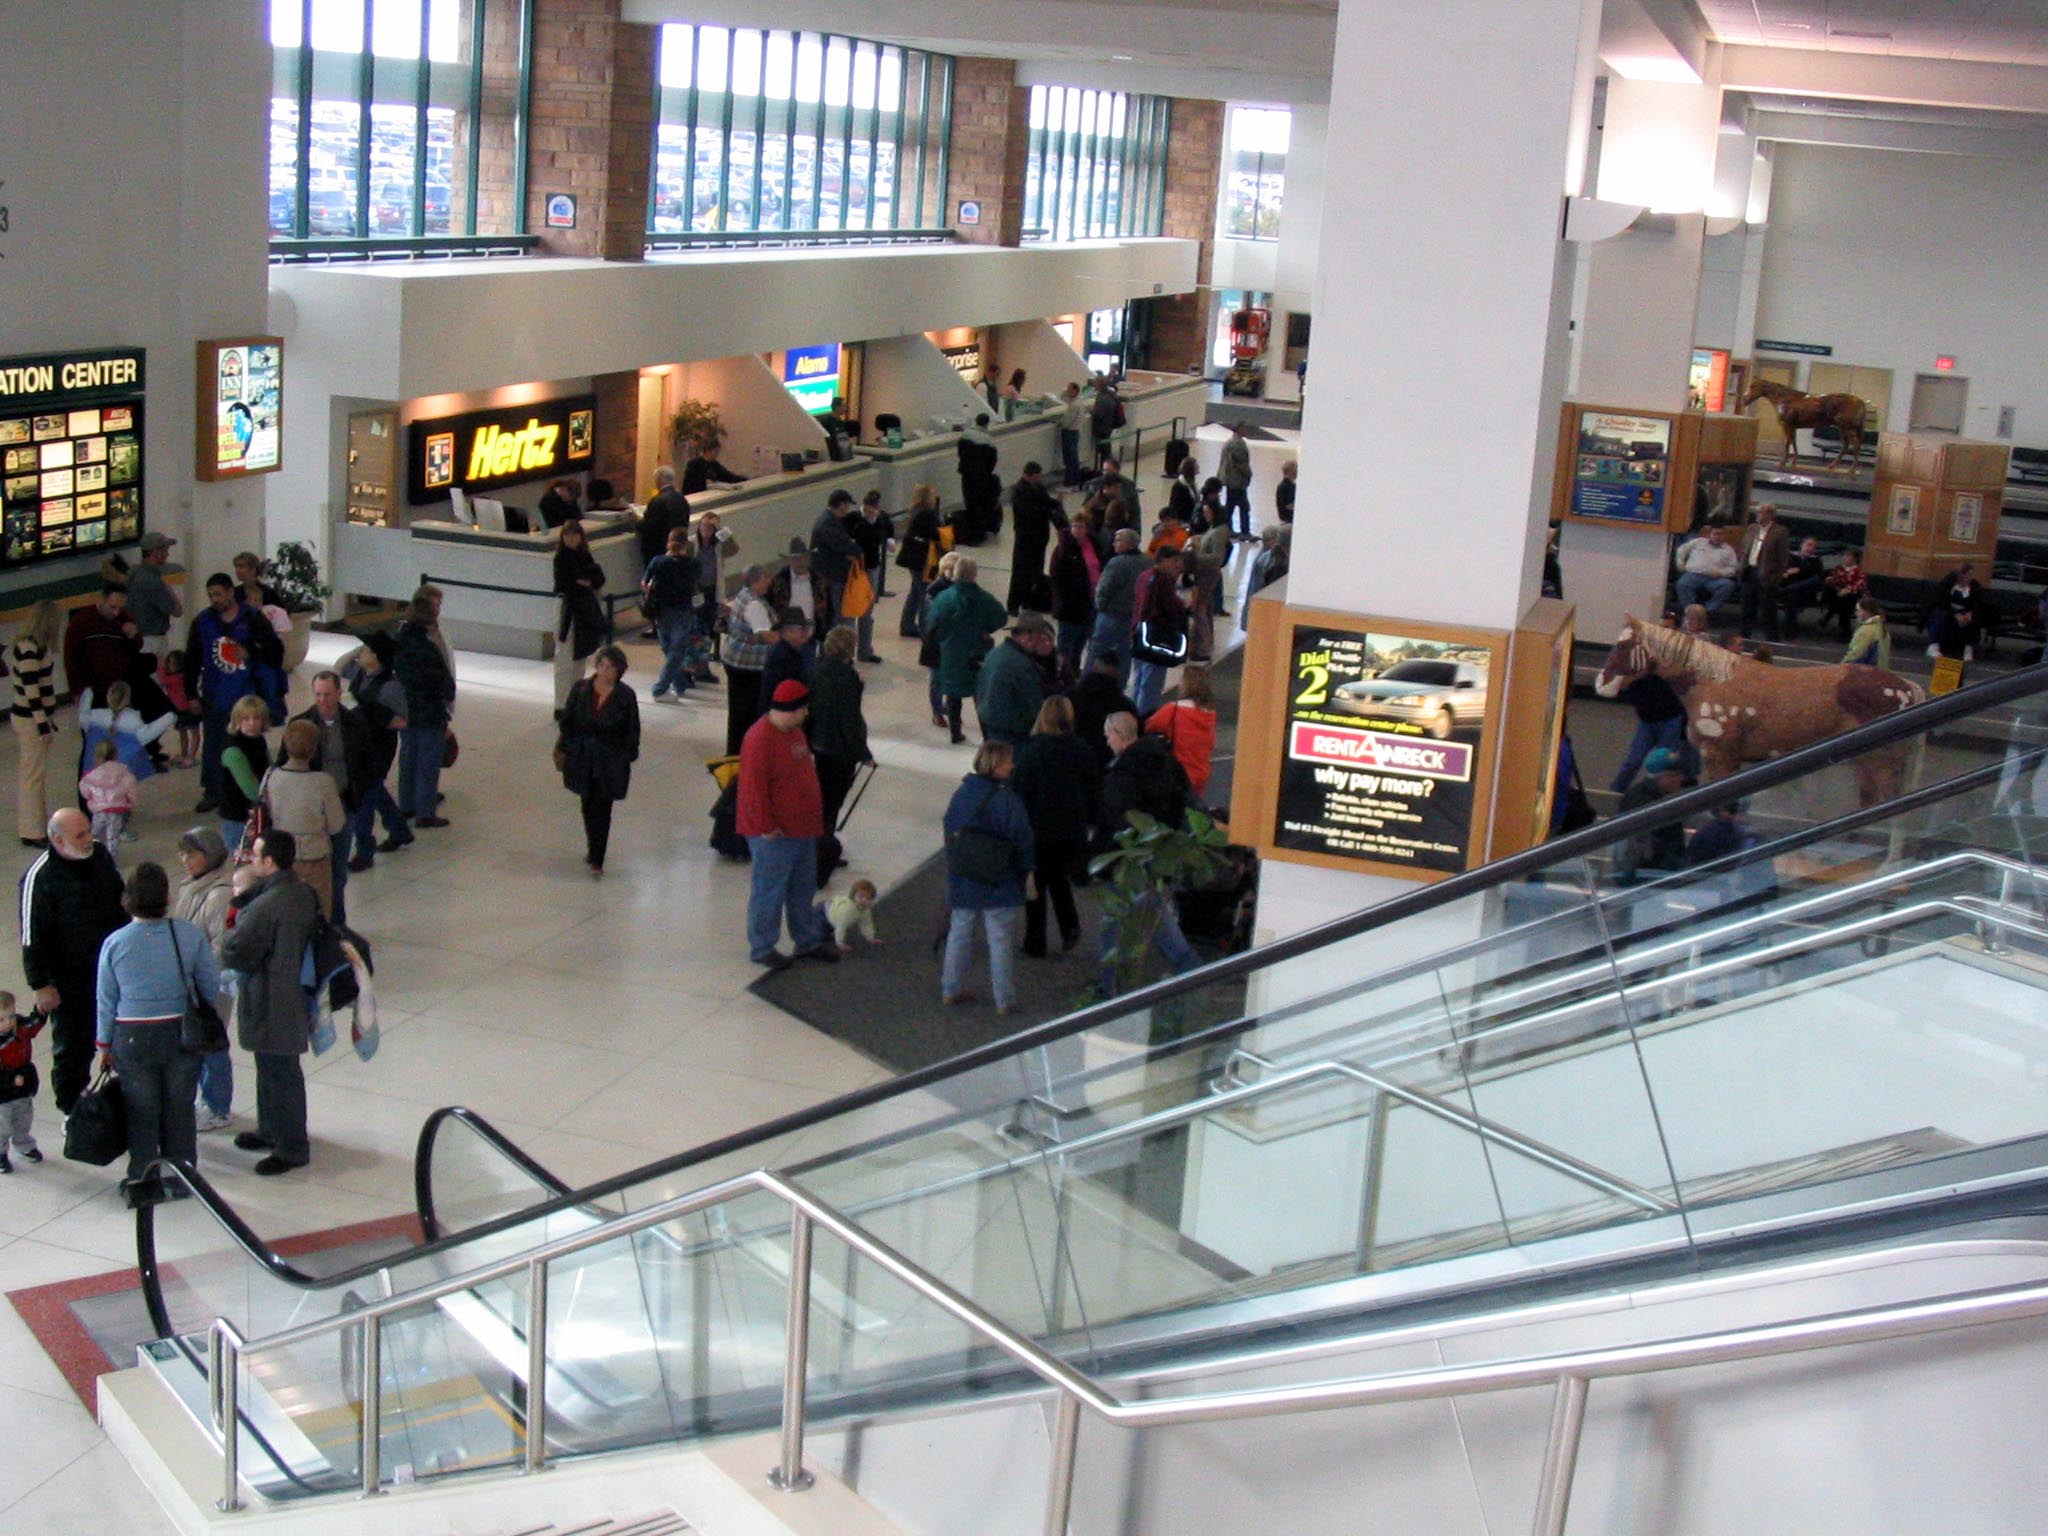
[[[1487,645],[1296,625],[1274,844],[1462,870],[1491,662]]]

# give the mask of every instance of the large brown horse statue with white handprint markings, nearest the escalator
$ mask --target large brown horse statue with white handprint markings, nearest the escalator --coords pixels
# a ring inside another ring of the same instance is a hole
[[[1593,692],[1614,698],[1647,672],[1669,682],[1686,705],[1686,735],[1700,750],[1706,780],[1896,715],[1927,696],[1896,672],[1853,664],[1772,666],[1630,616],[1599,668]],[[1872,807],[1901,793],[1911,745],[1898,741],[1855,760],[1860,805]]]

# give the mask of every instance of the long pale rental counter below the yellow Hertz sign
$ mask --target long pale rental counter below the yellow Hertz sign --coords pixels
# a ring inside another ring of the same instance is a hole
[[[729,582],[750,561],[776,561],[793,537],[809,539],[825,498],[844,487],[862,496],[874,485],[866,463],[819,463],[797,473],[760,475],[690,498],[692,512],[717,512],[741,553]],[[631,516],[584,518],[590,553],[604,567],[606,596],[639,594],[639,539]],[[334,526],[336,586],[367,598],[403,602],[422,582],[446,594],[449,639],[471,651],[543,659],[553,653],[557,623],[555,532],[496,532],[444,518],[416,518],[403,528]]]

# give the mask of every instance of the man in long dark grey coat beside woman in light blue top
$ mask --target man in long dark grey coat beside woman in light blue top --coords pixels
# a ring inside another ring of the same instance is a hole
[[[305,1135],[305,1067],[311,1018],[299,967],[319,928],[319,897],[299,879],[299,844],[289,831],[256,840],[256,885],[236,899],[233,926],[221,934],[221,965],[242,973],[236,1036],[256,1055],[256,1128],[236,1137],[242,1151],[264,1153],[256,1171],[289,1174],[313,1161]]]

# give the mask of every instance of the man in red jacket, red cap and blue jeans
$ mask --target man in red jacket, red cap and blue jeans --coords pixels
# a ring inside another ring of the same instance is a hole
[[[768,713],[748,727],[739,743],[737,829],[754,856],[748,946],[754,965],[770,969],[791,958],[776,948],[784,913],[799,956],[840,958],[817,911],[817,840],[825,836],[825,801],[811,741],[803,733],[809,713],[811,690],[786,678],[776,684]]]

